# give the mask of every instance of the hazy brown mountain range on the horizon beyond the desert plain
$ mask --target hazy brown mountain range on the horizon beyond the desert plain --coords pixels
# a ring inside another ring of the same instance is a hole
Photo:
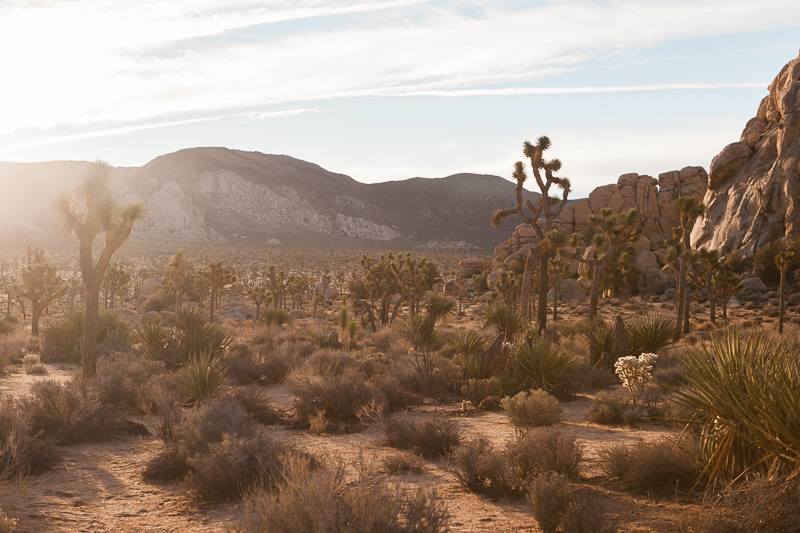
[[[73,188],[85,168],[75,161],[0,163],[0,222],[55,230],[51,198]],[[502,229],[489,226],[491,213],[514,197],[514,184],[498,176],[364,184],[289,156],[226,148],[192,148],[116,168],[112,186],[122,202],[148,208],[132,236],[163,242],[393,248],[435,240],[490,250],[514,227],[513,220]]]

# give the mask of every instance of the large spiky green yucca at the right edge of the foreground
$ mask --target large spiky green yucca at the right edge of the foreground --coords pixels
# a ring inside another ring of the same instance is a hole
[[[738,328],[687,351],[680,401],[704,416],[709,479],[800,466],[800,362],[790,344]]]

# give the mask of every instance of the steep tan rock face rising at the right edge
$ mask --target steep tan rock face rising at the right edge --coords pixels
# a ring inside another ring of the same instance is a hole
[[[769,86],[739,142],[711,162],[706,215],[692,243],[752,257],[783,237],[800,237],[800,57]]]

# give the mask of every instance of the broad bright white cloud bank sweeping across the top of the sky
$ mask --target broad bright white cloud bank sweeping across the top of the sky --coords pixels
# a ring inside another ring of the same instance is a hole
[[[566,1],[525,9],[478,2],[479,14],[469,16],[413,0],[3,5],[0,133],[327,98],[664,90],[486,86],[544,79],[658,43],[800,20],[794,0]],[[309,22],[280,33],[273,27],[289,20]]]

